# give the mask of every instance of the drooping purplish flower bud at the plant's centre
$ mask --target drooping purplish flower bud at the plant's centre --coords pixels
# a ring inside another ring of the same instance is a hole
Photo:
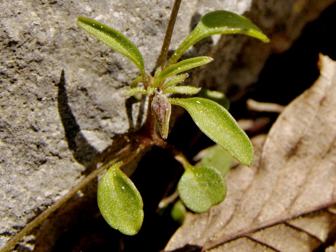
[[[152,111],[163,139],[167,139],[168,137],[171,110],[172,105],[169,103],[168,98],[162,95],[161,91],[155,90],[155,96],[152,101]]]

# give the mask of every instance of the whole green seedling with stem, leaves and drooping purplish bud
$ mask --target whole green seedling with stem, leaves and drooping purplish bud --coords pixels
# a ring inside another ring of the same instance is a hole
[[[169,133],[172,105],[183,107],[195,124],[215,143],[226,149],[239,162],[251,166],[254,150],[245,132],[238,126],[226,108],[215,101],[201,97],[176,98],[176,94],[196,95],[201,89],[181,85],[187,77],[187,70],[210,63],[213,59],[200,56],[179,61],[182,54],[203,38],[215,34],[246,34],[268,42],[268,38],[247,18],[229,11],[219,10],[207,13],[195,29],[181,43],[166,61],[171,33],[176,20],[180,1],[174,3],[170,22],[154,76],[146,71],[144,60],[138,48],[122,33],[89,18],[79,17],[78,25],[95,35],[103,43],[132,61],[140,76],[130,83],[124,93],[127,99],[144,95],[150,108],[146,123],[140,130],[142,142],[138,146],[156,145],[167,148],[178,160],[184,173],[178,183],[181,201],[190,210],[206,212],[211,206],[222,202],[226,196],[226,184],[221,173],[214,167],[191,165],[184,155],[170,146],[165,139]],[[156,130],[158,129],[158,130]],[[159,132],[161,138],[159,137]],[[139,141],[138,141],[139,142]],[[98,187],[98,206],[106,222],[127,235],[136,234],[143,222],[143,202],[133,182],[121,167],[127,157],[115,162],[102,177]]]

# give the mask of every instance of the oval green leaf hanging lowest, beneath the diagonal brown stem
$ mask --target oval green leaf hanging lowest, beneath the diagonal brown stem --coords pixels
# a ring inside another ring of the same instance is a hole
[[[133,182],[112,165],[98,185],[98,206],[105,221],[123,234],[136,234],[144,218],[143,202]]]

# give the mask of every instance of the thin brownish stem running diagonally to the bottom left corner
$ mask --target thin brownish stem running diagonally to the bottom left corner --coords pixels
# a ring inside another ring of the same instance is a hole
[[[118,156],[114,159],[110,160],[108,163],[103,164],[97,170],[94,170],[88,176],[86,176],[83,180],[81,180],[77,185],[70,189],[68,193],[66,193],[61,199],[54,202],[49,208],[43,211],[39,216],[37,216],[33,221],[26,225],[18,234],[16,234],[3,248],[1,248],[1,252],[7,252],[11,248],[13,248],[24,236],[28,235],[35,227],[39,226],[44,220],[46,220],[53,212],[55,212],[60,206],[69,201],[72,197],[74,197],[79,190],[87,186],[93,179],[99,176],[103,171],[108,169],[112,164],[117,161],[123,160],[123,165],[132,161],[142,150],[144,150],[151,143],[140,144],[135,151],[129,150],[129,148],[124,148],[124,151],[119,152]],[[134,150],[134,149],[133,149]],[[129,155],[129,151],[131,154]]]

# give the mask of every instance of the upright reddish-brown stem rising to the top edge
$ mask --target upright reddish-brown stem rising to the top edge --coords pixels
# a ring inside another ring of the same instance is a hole
[[[165,60],[167,59],[168,49],[169,49],[170,41],[172,39],[174,25],[175,25],[176,18],[178,16],[181,1],[182,0],[174,1],[174,6],[172,9],[172,13],[170,14],[168,26],[166,29],[166,35],[164,36],[164,40],[163,40],[160,56],[157,60],[156,68],[160,67],[161,69],[163,69]]]

